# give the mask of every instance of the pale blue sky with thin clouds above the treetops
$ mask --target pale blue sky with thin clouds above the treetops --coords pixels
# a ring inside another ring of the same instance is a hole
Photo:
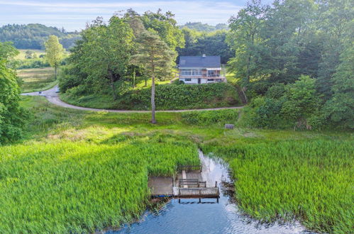
[[[271,0],[263,0],[269,4]],[[227,23],[230,16],[246,4],[246,0],[0,0],[0,26],[6,24],[42,23],[46,26],[64,27],[67,31],[84,29],[87,22],[97,16],[105,21],[118,11],[132,8],[138,13],[145,11],[172,11],[179,25],[202,22],[216,25]]]

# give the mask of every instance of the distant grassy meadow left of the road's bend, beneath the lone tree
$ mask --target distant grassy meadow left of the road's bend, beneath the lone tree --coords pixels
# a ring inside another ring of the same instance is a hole
[[[23,81],[22,91],[24,93],[50,89],[57,84],[52,67],[19,69],[17,73]]]

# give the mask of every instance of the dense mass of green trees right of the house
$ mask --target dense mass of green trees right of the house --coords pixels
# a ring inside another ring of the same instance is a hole
[[[229,20],[228,62],[259,127],[354,128],[350,0],[250,1]]]

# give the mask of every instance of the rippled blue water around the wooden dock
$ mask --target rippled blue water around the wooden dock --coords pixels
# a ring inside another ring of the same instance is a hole
[[[231,182],[226,165],[214,157],[199,152],[203,165],[202,177],[211,186],[215,181]],[[299,223],[260,224],[243,216],[232,195],[221,186],[219,204],[216,199],[172,199],[158,213],[147,211],[138,223],[107,233],[308,233]]]

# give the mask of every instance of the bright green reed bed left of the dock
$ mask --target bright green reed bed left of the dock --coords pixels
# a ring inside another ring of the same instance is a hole
[[[195,145],[168,138],[0,147],[0,233],[118,228],[145,210],[149,174],[197,162]]]

